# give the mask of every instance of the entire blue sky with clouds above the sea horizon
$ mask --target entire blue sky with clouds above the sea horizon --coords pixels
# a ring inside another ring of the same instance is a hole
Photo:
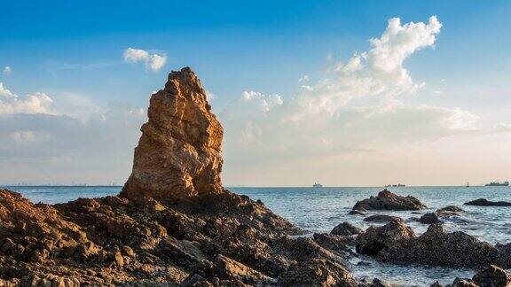
[[[509,1],[0,1],[0,184],[122,184],[191,66],[227,186],[511,178]]]

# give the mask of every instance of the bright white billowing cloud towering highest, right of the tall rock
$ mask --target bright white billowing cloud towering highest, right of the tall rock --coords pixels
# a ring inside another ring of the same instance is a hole
[[[381,37],[369,40],[370,50],[355,53],[346,63],[336,63],[328,76],[315,86],[306,86],[299,97],[301,111],[336,112],[351,100],[368,96],[396,97],[413,93],[424,83],[414,83],[403,66],[415,51],[431,47],[442,24],[435,16],[428,24],[401,24],[400,19],[389,19]]]

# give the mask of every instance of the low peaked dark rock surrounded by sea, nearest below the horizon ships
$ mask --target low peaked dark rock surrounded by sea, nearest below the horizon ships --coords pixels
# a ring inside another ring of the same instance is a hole
[[[412,196],[401,197],[389,190],[381,190],[377,197],[358,201],[353,210],[421,210],[426,208],[421,201]]]

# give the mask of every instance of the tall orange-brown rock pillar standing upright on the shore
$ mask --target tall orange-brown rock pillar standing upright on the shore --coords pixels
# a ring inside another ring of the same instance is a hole
[[[170,198],[222,192],[224,130],[210,111],[206,92],[185,67],[169,74],[151,97],[149,120],[135,149],[121,196]]]

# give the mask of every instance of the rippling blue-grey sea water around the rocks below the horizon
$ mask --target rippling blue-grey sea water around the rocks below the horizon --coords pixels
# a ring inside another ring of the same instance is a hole
[[[121,187],[48,187],[12,186],[33,202],[62,203],[75,198],[98,198],[119,193]],[[230,190],[261,199],[264,205],[296,226],[313,232],[329,232],[342,221],[366,229],[378,223],[363,221],[363,216],[349,215],[357,200],[376,195],[380,187],[367,188],[246,188],[232,187]],[[428,225],[414,221],[423,213],[434,212],[444,206],[460,206],[466,212],[452,216],[444,222],[447,231],[464,231],[491,244],[511,243],[511,207],[463,206],[477,198],[511,201],[510,187],[397,187],[389,188],[399,195],[419,198],[428,209],[420,212],[373,212],[402,217],[417,234],[428,229]],[[358,278],[378,277],[396,286],[428,286],[439,280],[452,283],[454,277],[472,277],[473,270],[463,268],[428,268],[422,266],[381,263],[362,256],[346,262],[350,271]]]

